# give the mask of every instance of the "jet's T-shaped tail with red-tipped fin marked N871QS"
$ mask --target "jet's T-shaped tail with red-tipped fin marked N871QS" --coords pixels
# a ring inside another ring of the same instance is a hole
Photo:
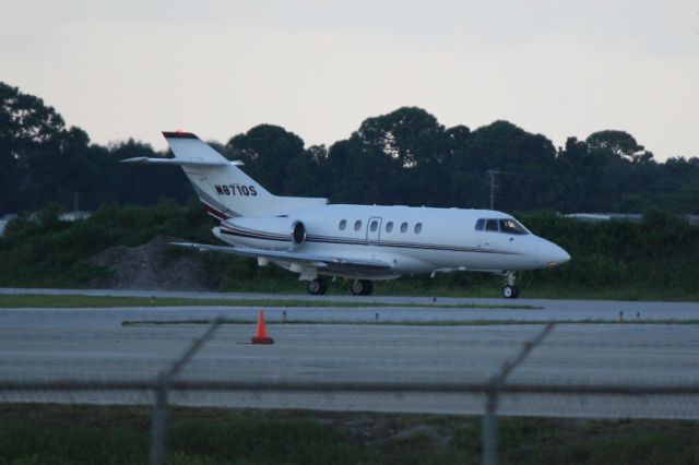
[[[288,211],[324,205],[328,199],[277,196],[242,172],[211,145],[190,132],[163,132],[174,158],[137,157],[126,163],[179,165],[206,212],[216,220],[234,216],[282,215]]]

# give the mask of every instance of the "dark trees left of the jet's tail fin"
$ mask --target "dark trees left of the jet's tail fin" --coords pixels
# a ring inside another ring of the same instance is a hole
[[[158,156],[134,141],[91,144],[80,128],[40,98],[0,83],[0,213],[36,210],[48,202],[94,210],[102,203],[180,202],[191,195],[180,170],[122,165],[121,158]]]

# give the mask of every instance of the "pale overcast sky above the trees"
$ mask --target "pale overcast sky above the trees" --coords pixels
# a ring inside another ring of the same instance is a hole
[[[260,123],[306,145],[425,108],[508,120],[556,146],[617,129],[699,156],[699,1],[0,0],[0,81],[100,144],[226,142]]]

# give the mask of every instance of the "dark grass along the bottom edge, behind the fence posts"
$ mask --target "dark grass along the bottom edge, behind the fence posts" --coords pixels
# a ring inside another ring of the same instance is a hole
[[[151,410],[0,404],[0,463],[146,464]],[[478,464],[481,418],[174,408],[169,464]],[[499,458],[518,464],[690,464],[699,422],[501,418]]]

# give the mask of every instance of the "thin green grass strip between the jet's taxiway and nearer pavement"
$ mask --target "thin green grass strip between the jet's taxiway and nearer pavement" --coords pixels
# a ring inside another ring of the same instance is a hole
[[[510,309],[534,310],[541,307],[525,305],[486,303],[387,303],[364,301],[294,300],[294,299],[198,299],[179,297],[112,297],[45,294],[0,295],[0,308],[107,308],[107,307],[412,307],[412,308],[463,308],[463,309]]]

